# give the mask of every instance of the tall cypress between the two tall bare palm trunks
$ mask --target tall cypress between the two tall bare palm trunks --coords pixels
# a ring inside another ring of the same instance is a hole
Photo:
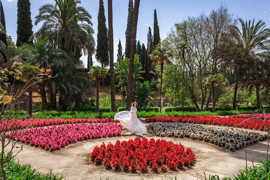
[[[129,0],[129,3],[128,3],[128,24],[127,24],[127,30],[125,33],[125,35],[126,35],[125,57],[126,58],[130,58],[132,16],[133,16],[133,0]]]

